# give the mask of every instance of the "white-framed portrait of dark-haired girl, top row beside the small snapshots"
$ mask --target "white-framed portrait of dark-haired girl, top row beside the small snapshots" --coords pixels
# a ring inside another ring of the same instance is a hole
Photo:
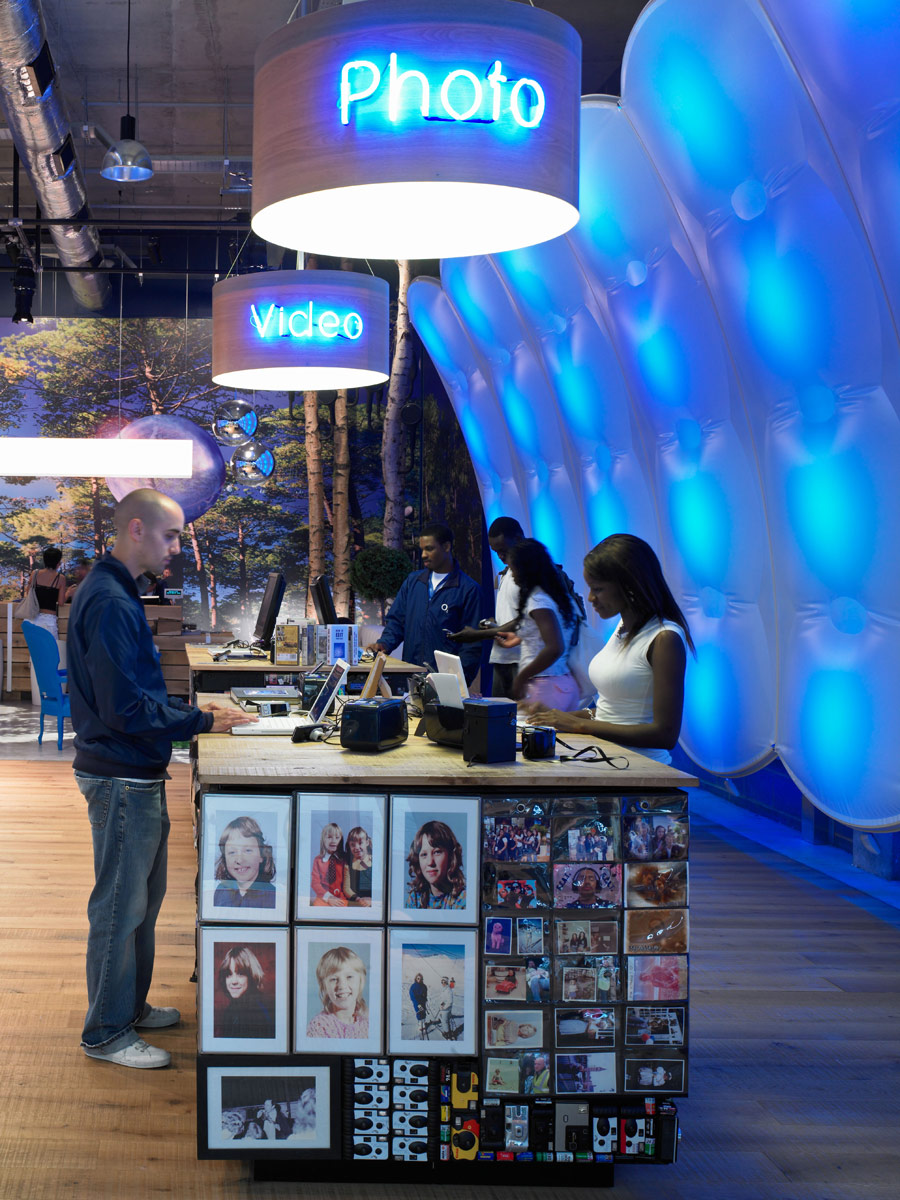
[[[480,803],[476,796],[391,796],[391,920],[479,920]]]

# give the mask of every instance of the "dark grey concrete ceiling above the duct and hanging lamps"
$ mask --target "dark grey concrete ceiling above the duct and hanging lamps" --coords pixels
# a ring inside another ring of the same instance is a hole
[[[308,0],[310,10],[326,5]],[[582,92],[616,95],[625,41],[643,6],[644,0],[536,4],[581,34]],[[145,184],[120,187],[101,178],[104,149],[83,127],[98,124],[119,136],[126,112],[127,0],[42,0],[95,217],[139,220],[150,230],[191,218],[233,221],[248,210],[253,54],[294,7],[294,0],[132,0],[131,112],[156,173]],[[230,169],[223,167],[226,157]],[[12,143],[0,140],[0,205],[7,220],[12,174]],[[34,214],[24,172],[19,203],[23,216]]]

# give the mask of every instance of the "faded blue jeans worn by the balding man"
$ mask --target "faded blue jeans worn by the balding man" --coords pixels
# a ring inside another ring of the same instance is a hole
[[[121,1050],[137,1040],[154,973],[156,918],[166,895],[169,814],[162,780],[76,772],[94,836],[88,901],[88,1015],[82,1045]]]

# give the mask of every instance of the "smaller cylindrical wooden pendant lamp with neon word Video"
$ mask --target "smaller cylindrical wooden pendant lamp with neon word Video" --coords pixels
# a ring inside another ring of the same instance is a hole
[[[383,383],[386,280],[354,271],[262,271],[212,288],[212,382],[317,391]]]

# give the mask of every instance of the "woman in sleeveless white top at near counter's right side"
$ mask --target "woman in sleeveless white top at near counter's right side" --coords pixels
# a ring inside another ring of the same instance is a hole
[[[535,706],[530,718],[565,733],[593,733],[671,762],[684,709],[685,644],[694,650],[653,550],[631,534],[605,538],[584,557],[588,602],[619,625],[590,664],[598,691],[592,712],[554,712]]]

